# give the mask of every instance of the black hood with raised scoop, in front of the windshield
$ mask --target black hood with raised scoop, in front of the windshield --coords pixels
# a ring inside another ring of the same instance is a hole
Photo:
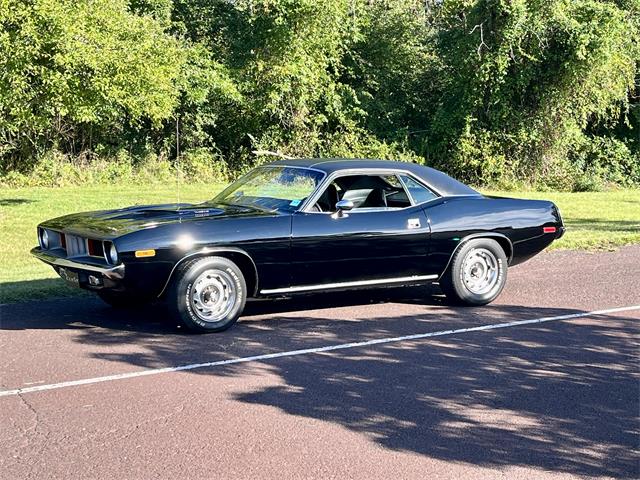
[[[41,226],[85,237],[115,238],[169,223],[265,215],[277,213],[235,205],[171,203],[74,213],[47,220]]]

